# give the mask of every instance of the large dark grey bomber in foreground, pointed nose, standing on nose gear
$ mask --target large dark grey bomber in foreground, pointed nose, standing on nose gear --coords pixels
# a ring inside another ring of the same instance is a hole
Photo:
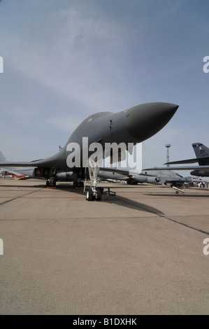
[[[35,179],[45,179],[47,186],[56,186],[58,179],[66,176],[74,185],[83,185],[83,181],[90,179],[91,188],[87,191],[87,200],[101,200],[101,191],[96,188],[97,176],[101,167],[101,160],[106,158],[106,145],[121,143],[126,146],[129,153],[136,145],[159,132],[171,118],[178,105],[163,102],[140,104],[118,113],[95,113],[82,121],[75,129],[66,145],[50,158],[34,160],[31,162],[0,162],[0,167],[31,167]],[[92,156],[95,149],[102,149],[102,154],[96,153],[94,161]],[[122,155],[122,150],[117,148]],[[109,154],[114,157],[114,154]],[[96,164],[96,165],[95,165]],[[20,172],[20,170],[19,170]]]

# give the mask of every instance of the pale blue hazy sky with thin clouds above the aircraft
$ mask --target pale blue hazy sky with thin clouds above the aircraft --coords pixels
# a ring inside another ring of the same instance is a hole
[[[180,107],[143,142],[143,167],[209,147],[208,0],[0,1],[0,149],[57,153],[92,113],[145,102]],[[186,173],[184,173],[186,174]]]

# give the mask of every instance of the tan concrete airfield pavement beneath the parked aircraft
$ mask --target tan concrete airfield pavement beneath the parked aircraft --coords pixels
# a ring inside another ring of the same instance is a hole
[[[209,314],[209,190],[99,186],[0,179],[0,314]]]

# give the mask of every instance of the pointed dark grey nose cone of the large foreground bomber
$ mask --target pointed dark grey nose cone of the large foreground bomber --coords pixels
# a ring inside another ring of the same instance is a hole
[[[145,141],[159,132],[171,118],[178,105],[171,103],[146,103],[127,110],[126,127],[132,137]]]

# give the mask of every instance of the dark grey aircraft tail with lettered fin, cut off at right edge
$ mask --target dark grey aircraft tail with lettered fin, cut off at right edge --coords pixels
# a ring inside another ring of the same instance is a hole
[[[192,176],[209,177],[209,148],[197,142],[192,144],[196,158],[166,162],[164,165],[185,165],[198,162],[199,166],[182,166],[182,167],[158,167],[145,170],[192,170]]]

